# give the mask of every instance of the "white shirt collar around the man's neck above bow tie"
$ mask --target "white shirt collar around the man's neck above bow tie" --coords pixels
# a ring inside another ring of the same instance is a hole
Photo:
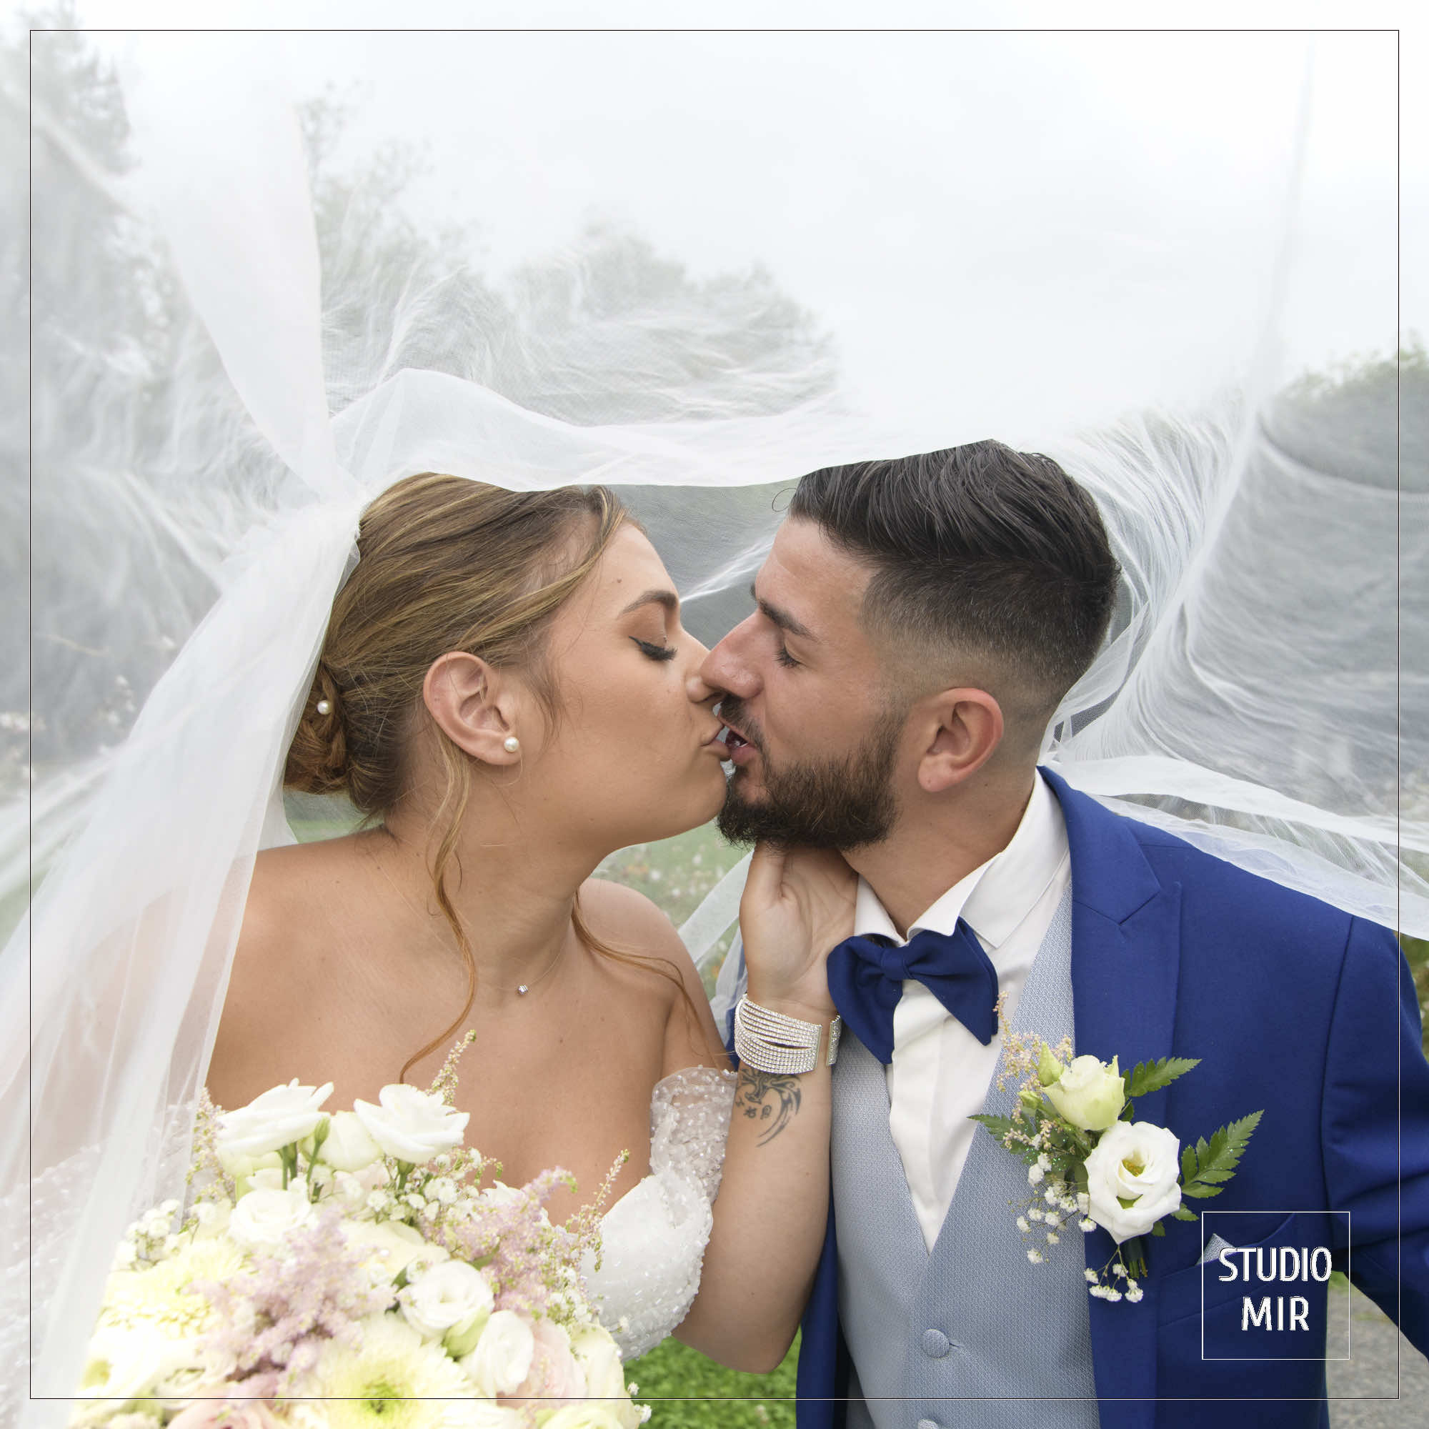
[[[1017,832],[1007,846],[960,877],[916,917],[907,930],[909,937],[920,929],[952,933],[957,927],[957,919],[963,917],[986,945],[997,947],[1042,897],[1066,855],[1067,833],[1062,809],[1039,773],[1033,779],[1032,797],[1022,812]],[[853,932],[857,937],[877,933],[895,943],[905,942],[879,896],[862,877],[853,909]]]

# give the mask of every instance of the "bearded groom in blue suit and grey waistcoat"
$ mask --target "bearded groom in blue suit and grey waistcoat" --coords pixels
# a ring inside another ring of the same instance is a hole
[[[1390,933],[1037,767],[1116,583],[1047,457],[835,467],[799,483],[756,613],[703,667],[729,692],[725,833],[860,875],[859,936],[829,960],[845,1032],[800,1429],[1326,1425],[1330,1262],[1429,1346],[1429,1066]],[[1015,1032],[1123,1070],[1199,1057],[1135,1105],[1182,1145],[1265,1113],[1222,1193],[1187,1200],[1205,1225],[1145,1239],[1139,1295],[1087,1293],[1106,1230],[1016,1220],[1037,1190],[969,1120],[1013,1105],[996,995]]]

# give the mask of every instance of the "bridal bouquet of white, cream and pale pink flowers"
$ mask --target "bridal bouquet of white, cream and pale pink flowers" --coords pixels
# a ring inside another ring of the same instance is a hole
[[[553,1226],[563,1170],[504,1186],[462,1146],[456,1060],[432,1089],[326,1113],[323,1087],[204,1103],[191,1206],[126,1235],[71,1425],[107,1429],[634,1429],[584,1300],[596,1202]],[[483,1186],[483,1176],[493,1182]],[[630,1386],[633,1390],[634,1386]]]

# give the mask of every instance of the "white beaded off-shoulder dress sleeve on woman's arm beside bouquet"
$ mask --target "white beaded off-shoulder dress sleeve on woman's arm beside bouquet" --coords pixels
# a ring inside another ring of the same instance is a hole
[[[650,1099],[650,1175],[600,1222],[600,1269],[583,1266],[600,1323],[622,1359],[654,1349],[684,1319],[700,1286],[719,1193],[735,1075],[684,1067]]]

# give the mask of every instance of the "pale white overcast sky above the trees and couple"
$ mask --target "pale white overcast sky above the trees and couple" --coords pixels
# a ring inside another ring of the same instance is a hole
[[[1062,13],[952,9],[969,26]],[[190,26],[193,13],[169,0],[79,4],[94,27]],[[494,274],[557,253],[592,220],[643,234],[699,274],[763,263],[835,334],[856,399],[903,426],[926,417],[932,432],[950,414],[955,429],[1030,439],[1046,424],[1195,400],[1243,377],[1268,330],[1289,376],[1389,352],[1396,302],[1405,327],[1429,327],[1423,264],[1409,257],[1429,234],[1412,114],[1396,292],[1393,33],[332,30],[639,26],[669,13],[203,6],[210,27],[324,31],[274,41],[292,91],[347,94],[353,151],[386,137],[422,146],[432,173],[412,190],[413,213],[470,227]],[[857,24],[872,13],[719,11],[723,24]],[[927,24],[950,7],[876,13]],[[1086,24],[1145,13],[1077,7]],[[1169,23],[1176,7],[1156,13]],[[1402,19],[1363,4],[1185,13],[1242,26]],[[143,36],[96,39],[143,63]],[[1282,322],[1268,329],[1278,293]],[[1036,420],[1019,432],[1029,412]]]

